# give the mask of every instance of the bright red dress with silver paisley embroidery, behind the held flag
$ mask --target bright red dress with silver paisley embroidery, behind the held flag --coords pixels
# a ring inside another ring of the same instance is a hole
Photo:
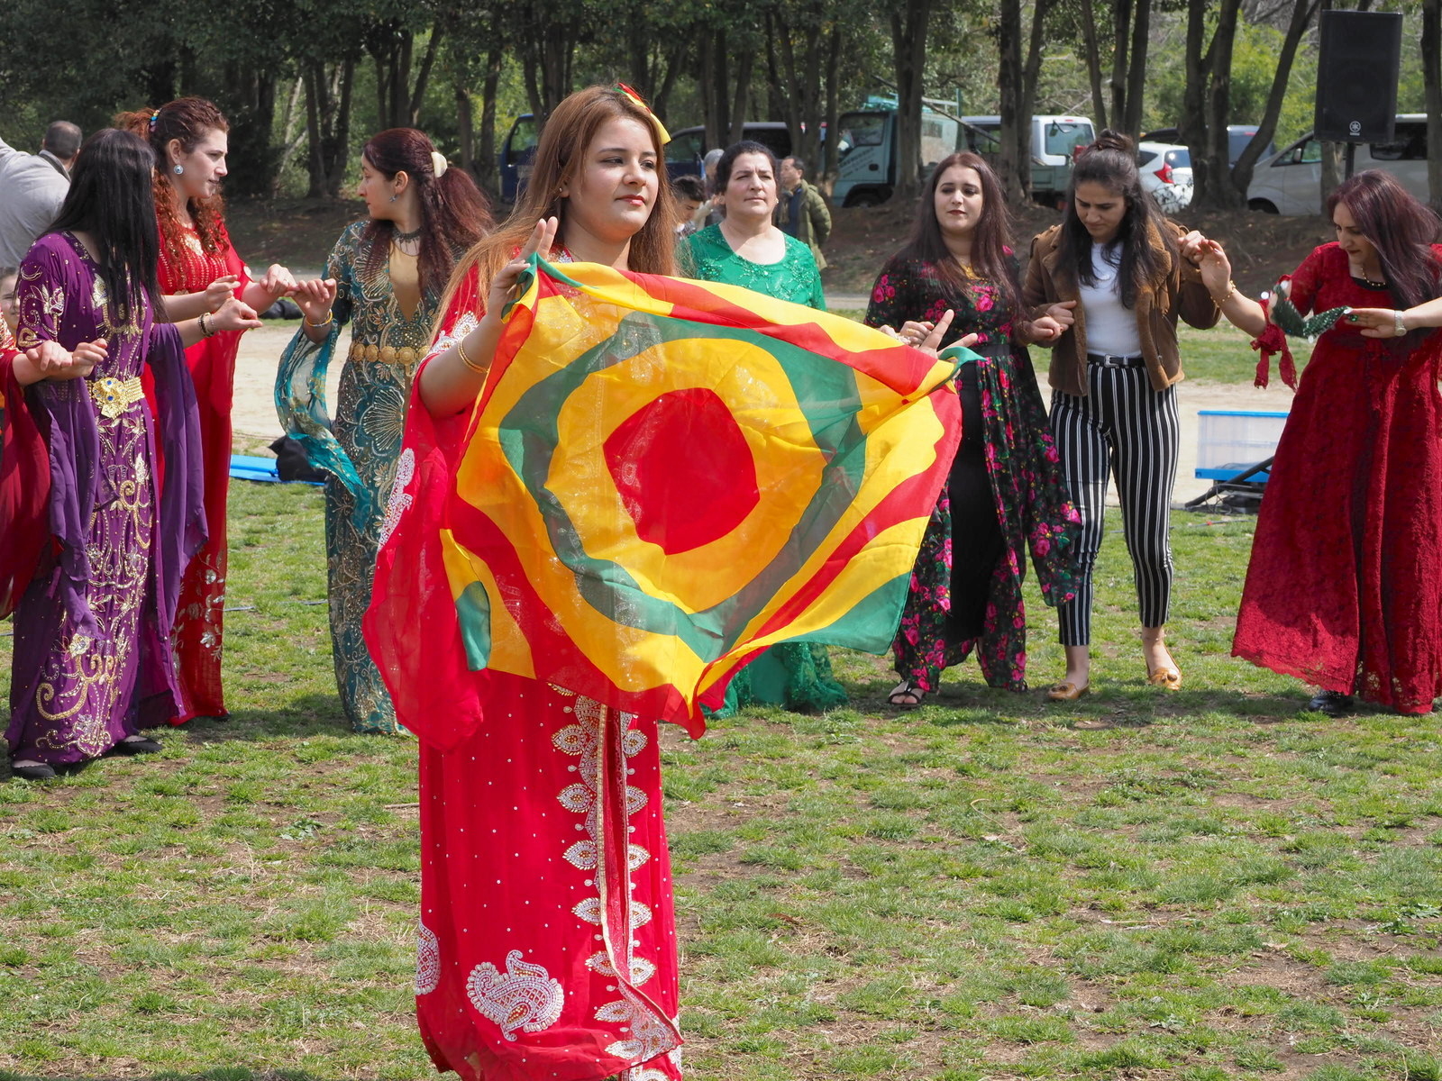
[[[474,329],[483,295],[473,268],[431,356]],[[438,530],[415,522],[443,517],[469,415],[433,421],[418,393],[420,379],[366,639],[375,650],[378,608],[388,624],[418,628],[404,636],[408,667],[427,676],[388,679],[397,716],[421,738],[415,1013],[425,1049],[464,1081],[679,1081],[658,724],[466,667],[460,636],[443,630],[456,607]],[[402,516],[410,525],[397,529]]]

